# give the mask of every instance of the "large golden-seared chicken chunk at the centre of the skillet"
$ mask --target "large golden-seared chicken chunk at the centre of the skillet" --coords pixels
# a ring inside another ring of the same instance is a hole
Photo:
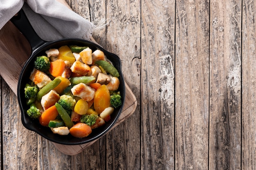
[[[78,96],[86,102],[94,99],[95,95],[95,89],[91,88],[90,86],[86,86],[83,83],[75,85],[73,88],[71,88],[71,92],[74,96]]]

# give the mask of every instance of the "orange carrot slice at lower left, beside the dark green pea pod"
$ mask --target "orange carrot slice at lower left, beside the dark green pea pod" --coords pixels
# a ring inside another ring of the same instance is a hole
[[[43,126],[48,126],[50,120],[56,119],[58,116],[58,110],[55,105],[47,108],[39,117],[39,122]]]

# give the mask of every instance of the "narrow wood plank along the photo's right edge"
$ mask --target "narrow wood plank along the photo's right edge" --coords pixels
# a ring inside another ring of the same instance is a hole
[[[243,1],[243,39],[242,39],[242,167],[244,170],[256,166],[256,1]]]

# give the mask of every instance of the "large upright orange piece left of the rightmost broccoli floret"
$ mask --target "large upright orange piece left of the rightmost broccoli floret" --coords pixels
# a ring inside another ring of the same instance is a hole
[[[110,93],[108,87],[101,85],[94,95],[94,109],[97,113],[101,113],[105,108],[110,106]]]

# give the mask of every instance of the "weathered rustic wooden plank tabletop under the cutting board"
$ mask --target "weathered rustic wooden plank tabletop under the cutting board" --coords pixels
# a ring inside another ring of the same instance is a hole
[[[67,3],[107,23],[93,38],[121,58],[137,108],[83,152],[65,155],[22,126],[2,79],[1,169],[256,169],[256,0]]]

